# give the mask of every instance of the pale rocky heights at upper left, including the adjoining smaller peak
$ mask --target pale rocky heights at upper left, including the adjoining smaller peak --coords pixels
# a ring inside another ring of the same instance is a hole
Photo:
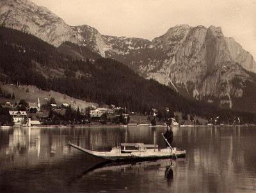
[[[71,41],[78,45],[90,46],[102,56],[108,49],[99,31],[93,27],[67,25],[47,8],[28,0],[0,1],[0,25],[28,32],[54,46]]]

